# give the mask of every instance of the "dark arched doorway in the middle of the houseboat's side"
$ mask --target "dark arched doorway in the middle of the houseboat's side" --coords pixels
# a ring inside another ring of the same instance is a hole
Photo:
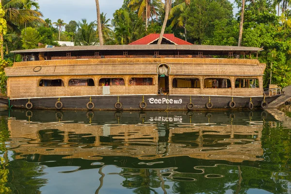
[[[158,94],[169,94],[169,67],[162,64],[158,67],[159,80],[158,80]]]

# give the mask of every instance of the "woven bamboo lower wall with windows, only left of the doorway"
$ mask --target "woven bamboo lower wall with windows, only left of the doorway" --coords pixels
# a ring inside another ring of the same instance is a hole
[[[10,77],[7,82],[7,95],[10,98],[31,97],[73,97],[102,95],[102,86],[98,86],[100,78],[123,78],[125,86],[111,86],[111,95],[157,94],[158,85],[128,85],[129,78],[144,77],[158,80],[158,75],[105,75],[105,76],[49,76],[49,77]],[[68,86],[70,79],[92,78],[95,86]],[[61,79],[65,86],[38,86],[41,79]],[[157,83],[157,82],[154,82]]]

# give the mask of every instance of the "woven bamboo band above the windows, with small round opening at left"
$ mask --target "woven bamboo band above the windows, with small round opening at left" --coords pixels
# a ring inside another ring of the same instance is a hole
[[[45,65],[6,67],[8,77],[16,76],[50,76],[50,75],[107,75],[107,74],[157,74],[158,63],[142,64],[95,64],[95,65]],[[262,75],[264,64],[235,65],[235,64],[167,64],[170,74],[180,75],[232,75],[254,76]],[[38,70],[36,70],[37,68]],[[239,69],[238,69],[239,68]]]

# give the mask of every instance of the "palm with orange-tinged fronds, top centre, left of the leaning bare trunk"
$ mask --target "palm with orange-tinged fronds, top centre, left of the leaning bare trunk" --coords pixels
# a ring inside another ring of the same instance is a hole
[[[146,20],[146,30],[148,20],[152,16],[158,17],[156,8],[161,3],[161,0],[130,0],[128,7],[131,7],[133,11],[138,10],[138,17],[142,17]]]

